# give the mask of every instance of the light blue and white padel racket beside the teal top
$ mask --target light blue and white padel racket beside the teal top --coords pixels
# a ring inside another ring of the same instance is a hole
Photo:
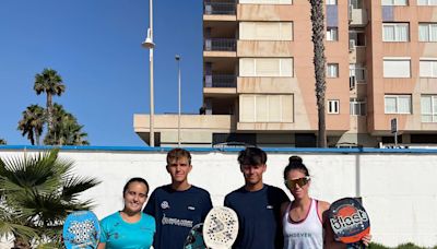
[[[78,211],[67,216],[62,229],[63,245],[67,249],[95,249],[101,239],[97,216],[91,211]]]

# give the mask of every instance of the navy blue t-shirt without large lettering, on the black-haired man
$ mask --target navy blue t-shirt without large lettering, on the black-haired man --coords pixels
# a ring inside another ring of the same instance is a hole
[[[239,222],[233,248],[282,249],[281,204],[287,201],[282,189],[269,185],[253,192],[241,187],[227,194],[224,204],[237,213]]]

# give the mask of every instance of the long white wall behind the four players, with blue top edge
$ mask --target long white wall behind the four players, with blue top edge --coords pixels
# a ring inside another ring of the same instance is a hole
[[[71,147],[70,147],[71,149]],[[191,183],[210,191],[213,204],[239,188],[243,176],[237,151],[192,151]],[[268,151],[264,181],[283,188],[282,171],[290,155],[300,155],[312,176],[310,194],[332,202],[362,197],[370,216],[374,241],[386,246],[437,244],[437,150],[287,150]],[[27,150],[27,153],[32,153]],[[22,156],[23,147],[0,146],[0,157]],[[82,197],[94,199],[99,218],[122,208],[121,189],[130,177],[144,177],[151,189],[169,182],[166,150],[102,149],[62,150],[61,157],[75,162],[81,176],[103,182]]]

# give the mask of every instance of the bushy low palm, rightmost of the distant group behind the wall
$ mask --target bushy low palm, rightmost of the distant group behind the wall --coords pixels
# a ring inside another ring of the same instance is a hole
[[[78,119],[63,109],[62,105],[54,105],[54,129],[44,139],[45,144],[57,145],[88,145],[87,133],[83,132],[83,126]]]

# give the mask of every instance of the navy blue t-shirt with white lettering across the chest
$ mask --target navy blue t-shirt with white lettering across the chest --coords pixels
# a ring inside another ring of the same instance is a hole
[[[156,222],[153,247],[184,248],[190,229],[202,223],[211,209],[211,197],[204,189],[191,186],[185,191],[176,191],[169,185],[156,188],[143,210]]]

